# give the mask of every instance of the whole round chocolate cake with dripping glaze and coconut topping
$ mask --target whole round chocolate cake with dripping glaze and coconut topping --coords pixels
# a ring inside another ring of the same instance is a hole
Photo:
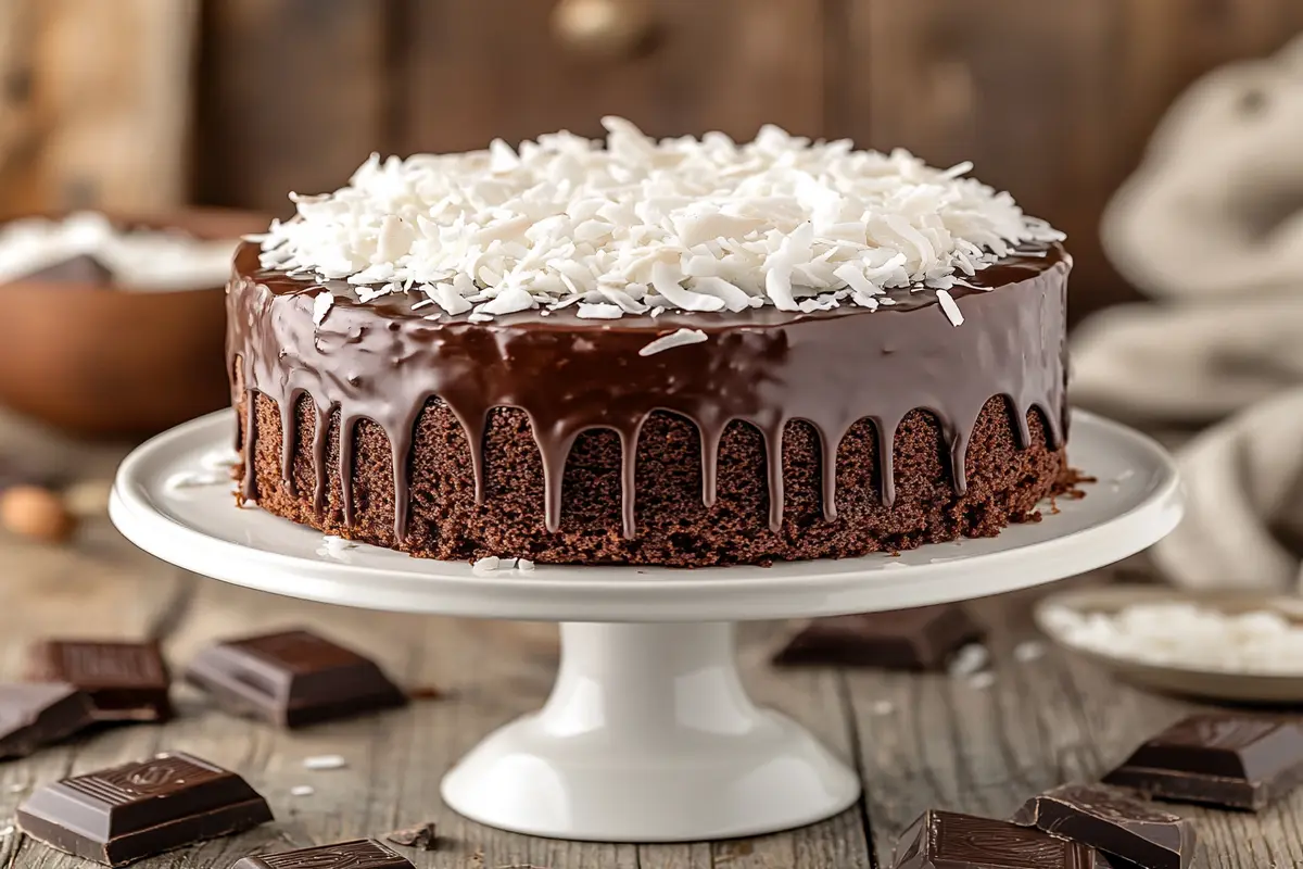
[[[228,288],[241,500],[692,567],[992,535],[1066,483],[1061,233],[967,164],[606,126],[291,195]]]

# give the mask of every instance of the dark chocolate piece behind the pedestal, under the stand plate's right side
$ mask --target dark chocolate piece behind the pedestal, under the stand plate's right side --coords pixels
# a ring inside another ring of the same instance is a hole
[[[955,651],[981,636],[964,608],[950,603],[843,615],[814,619],[774,663],[939,670]]]

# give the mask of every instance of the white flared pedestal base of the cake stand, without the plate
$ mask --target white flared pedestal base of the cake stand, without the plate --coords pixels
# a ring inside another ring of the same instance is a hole
[[[681,842],[812,823],[860,782],[791,719],[751,702],[734,625],[562,624],[538,713],[491,734],[443,779],[482,823],[598,842]]]

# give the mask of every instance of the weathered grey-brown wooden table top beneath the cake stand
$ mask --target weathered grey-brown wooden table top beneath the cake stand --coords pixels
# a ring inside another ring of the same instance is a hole
[[[0,447],[89,477],[111,474],[124,453],[70,444],[9,418],[0,418]],[[1016,661],[1014,648],[1035,637],[1027,618],[1033,594],[973,602],[990,627],[995,680],[985,689],[945,675],[779,671],[767,659],[794,625],[751,624],[741,632],[747,687],[851,761],[864,799],[822,823],[753,839],[555,842],[472,823],[439,800],[439,778],[463,752],[543,702],[556,667],[554,625],[365,612],[249,591],[155,560],[122,539],[107,517],[87,521],[68,546],[0,537],[0,666],[9,676],[42,637],[158,637],[180,668],[214,638],[309,625],[370,651],[407,685],[447,692],[404,710],[284,732],[229,718],[179,687],[180,715],[172,723],[108,730],[0,763],[0,818],[12,817],[35,786],[165,748],[235,769],[270,800],[275,823],[142,861],[142,869],[227,869],[249,853],[379,836],[425,821],[438,825],[439,849],[405,851],[422,868],[890,866],[898,835],[924,809],[1009,814],[1038,790],[1098,775],[1190,709],[1118,685],[1053,650]],[[306,757],[335,753],[347,758],[347,769],[302,766]],[[292,795],[305,784],[314,788],[310,796]],[[1190,814],[1204,842],[1201,869],[1303,866],[1303,790],[1260,816]],[[0,866],[90,865],[16,830],[0,838]]]

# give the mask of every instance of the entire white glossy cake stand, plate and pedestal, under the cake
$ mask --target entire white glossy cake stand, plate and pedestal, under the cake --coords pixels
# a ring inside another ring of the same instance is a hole
[[[263,591],[401,612],[562,623],[556,685],[538,713],[487,736],[443,779],[461,814],[562,839],[684,842],[773,833],[855,803],[856,774],[809,732],[747,697],[734,623],[895,610],[1011,591],[1102,567],[1170,532],[1175,468],[1148,438],[1085,413],[1081,500],[998,538],[900,556],[676,571],[549,567],[477,571],[358,546],[258,509],[225,485],[180,487],[229,443],[215,413],[122,463],[111,515],[142,548]]]

